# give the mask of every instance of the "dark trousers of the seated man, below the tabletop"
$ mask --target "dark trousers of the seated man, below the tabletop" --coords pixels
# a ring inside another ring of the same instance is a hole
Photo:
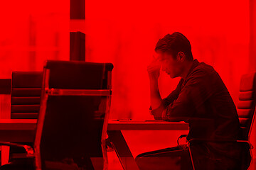
[[[240,170],[241,161],[206,152],[202,145],[191,146],[196,170]],[[192,163],[187,145],[139,154],[136,157],[140,170],[191,170]]]

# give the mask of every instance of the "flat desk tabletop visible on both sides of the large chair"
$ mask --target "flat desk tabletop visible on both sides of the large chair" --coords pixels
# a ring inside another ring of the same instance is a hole
[[[0,119],[0,130],[35,130],[36,123],[36,119]],[[188,130],[188,124],[164,120],[110,120],[107,130]]]

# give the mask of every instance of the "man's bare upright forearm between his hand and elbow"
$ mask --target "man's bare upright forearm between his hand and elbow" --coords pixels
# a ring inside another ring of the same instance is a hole
[[[159,108],[161,103],[163,102],[160,93],[157,79],[150,79],[150,102],[151,108],[156,109]]]

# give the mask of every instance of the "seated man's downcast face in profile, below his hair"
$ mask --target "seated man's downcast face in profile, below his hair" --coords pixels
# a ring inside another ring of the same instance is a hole
[[[178,60],[178,57],[174,57],[167,52],[157,52],[157,57],[161,62],[162,70],[166,72],[166,74],[168,74],[171,79],[181,75],[183,64],[180,60]]]

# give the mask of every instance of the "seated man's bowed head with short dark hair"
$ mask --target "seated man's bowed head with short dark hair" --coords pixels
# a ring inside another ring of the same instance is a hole
[[[167,34],[156,43],[156,53],[159,55],[164,72],[171,78],[180,77],[188,63],[193,62],[191,44],[181,33]]]

